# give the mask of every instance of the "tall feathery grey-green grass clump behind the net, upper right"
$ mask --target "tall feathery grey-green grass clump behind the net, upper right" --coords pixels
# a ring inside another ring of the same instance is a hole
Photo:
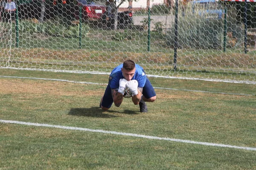
[[[193,9],[189,4],[185,16],[179,18],[178,22],[178,47],[179,48],[200,48],[200,49],[221,49],[224,40],[224,19],[209,18],[210,14],[201,15],[199,11],[204,9],[195,6]],[[179,10],[181,11],[181,10]],[[179,16],[182,16],[179,13]],[[232,24],[235,21],[234,15],[227,18],[228,31],[233,31],[241,37],[241,27]],[[235,22],[236,23],[236,22]],[[173,47],[175,40],[175,27],[173,26],[166,37],[166,44]]]

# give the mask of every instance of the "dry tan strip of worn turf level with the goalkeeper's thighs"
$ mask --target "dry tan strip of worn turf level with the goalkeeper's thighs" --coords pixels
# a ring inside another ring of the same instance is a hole
[[[101,86],[99,88],[99,86]],[[29,98],[31,95],[51,94],[52,96],[102,96],[106,85],[87,85],[76,84],[70,82],[31,80],[31,79],[1,79],[1,94],[25,94],[19,100]],[[103,88],[102,88],[103,87]],[[187,91],[170,91],[163,89],[155,89],[158,99],[191,99],[204,100],[205,98],[225,99],[225,94],[199,93]],[[189,94],[188,94],[189,93]],[[244,96],[229,96],[232,99],[244,98]]]

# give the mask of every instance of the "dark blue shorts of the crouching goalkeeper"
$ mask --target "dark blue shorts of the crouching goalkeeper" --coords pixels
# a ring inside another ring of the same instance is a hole
[[[148,80],[148,78],[146,79],[146,83],[143,87],[142,94],[147,99],[156,96],[156,92],[154,91],[154,88],[151,85],[151,82]],[[111,94],[110,85],[108,84],[108,86],[105,90],[105,94],[104,94],[103,99],[102,99],[102,106],[104,108],[111,108],[112,104],[113,104],[113,98],[112,98],[112,94]]]

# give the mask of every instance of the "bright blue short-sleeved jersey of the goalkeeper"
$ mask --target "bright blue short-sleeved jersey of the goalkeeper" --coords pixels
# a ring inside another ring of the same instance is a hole
[[[111,72],[109,76],[109,81],[108,81],[108,84],[110,85],[111,89],[119,88],[119,80],[125,78],[122,75],[122,71],[121,71],[122,67],[123,67],[123,64],[117,66]],[[140,65],[135,64],[135,68],[136,68],[135,74],[134,74],[134,77],[132,77],[132,79],[137,80],[139,88],[143,88],[147,79],[146,74]]]

